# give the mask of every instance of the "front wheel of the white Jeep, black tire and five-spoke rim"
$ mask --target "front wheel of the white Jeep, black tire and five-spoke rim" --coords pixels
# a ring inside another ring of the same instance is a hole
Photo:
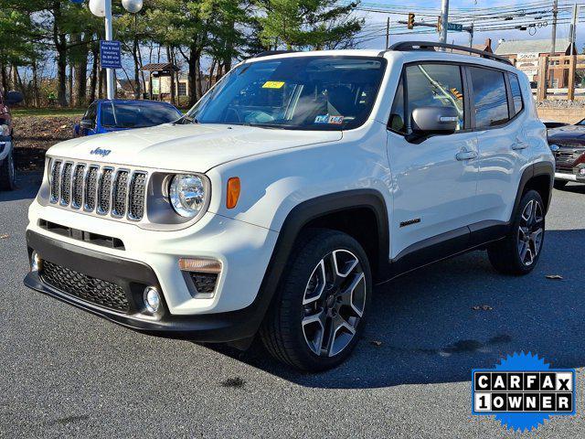
[[[261,327],[262,342],[294,368],[334,368],[364,330],[371,292],[361,245],[346,233],[310,230],[287,264]]]

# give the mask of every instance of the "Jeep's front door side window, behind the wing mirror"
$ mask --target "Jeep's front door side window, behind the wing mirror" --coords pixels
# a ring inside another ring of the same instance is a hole
[[[406,106],[403,103],[405,96]],[[459,66],[436,63],[410,65],[400,80],[388,128],[401,134],[410,134],[409,119],[412,111],[431,106],[454,108],[459,119],[457,130],[463,130],[463,101],[463,80]]]

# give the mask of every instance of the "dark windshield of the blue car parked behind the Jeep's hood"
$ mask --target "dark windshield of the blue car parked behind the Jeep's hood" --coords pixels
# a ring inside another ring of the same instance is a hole
[[[165,104],[101,104],[101,125],[110,128],[144,128],[175,122],[179,117],[181,114],[175,108]]]

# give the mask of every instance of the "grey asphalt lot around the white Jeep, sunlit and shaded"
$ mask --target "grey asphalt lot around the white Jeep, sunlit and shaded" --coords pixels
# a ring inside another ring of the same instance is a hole
[[[500,275],[473,252],[378,287],[354,355],[309,375],[260,344],[147,337],[25,288],[39,179],[0,193],[2,438],[585,437],[585,185],[555,190],[533,273]],[[576,416],[513,434],[471,415],[471,370],[523,350],[580,368]]]

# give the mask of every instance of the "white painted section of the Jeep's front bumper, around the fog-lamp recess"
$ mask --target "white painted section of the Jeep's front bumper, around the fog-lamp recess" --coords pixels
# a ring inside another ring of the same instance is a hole
[[[70,211],[69,211],[70,210]],[[148,265],[156,275],[173,316],[228,313],[252,304],[269,266],[278,233],[236,219],[207,212],[185,230],[143,230],[134,224],[85,215],[73,209],[41,206],[28,210],[28,228],[39,235]],[[44,221],[85,233],[107,235],[122,247],[96,245],[42,227]],[[41,255],[42,256],[42,255]],[[194,294],[179,270],[181,258],[208,258],[221,262],[215,294]]]

